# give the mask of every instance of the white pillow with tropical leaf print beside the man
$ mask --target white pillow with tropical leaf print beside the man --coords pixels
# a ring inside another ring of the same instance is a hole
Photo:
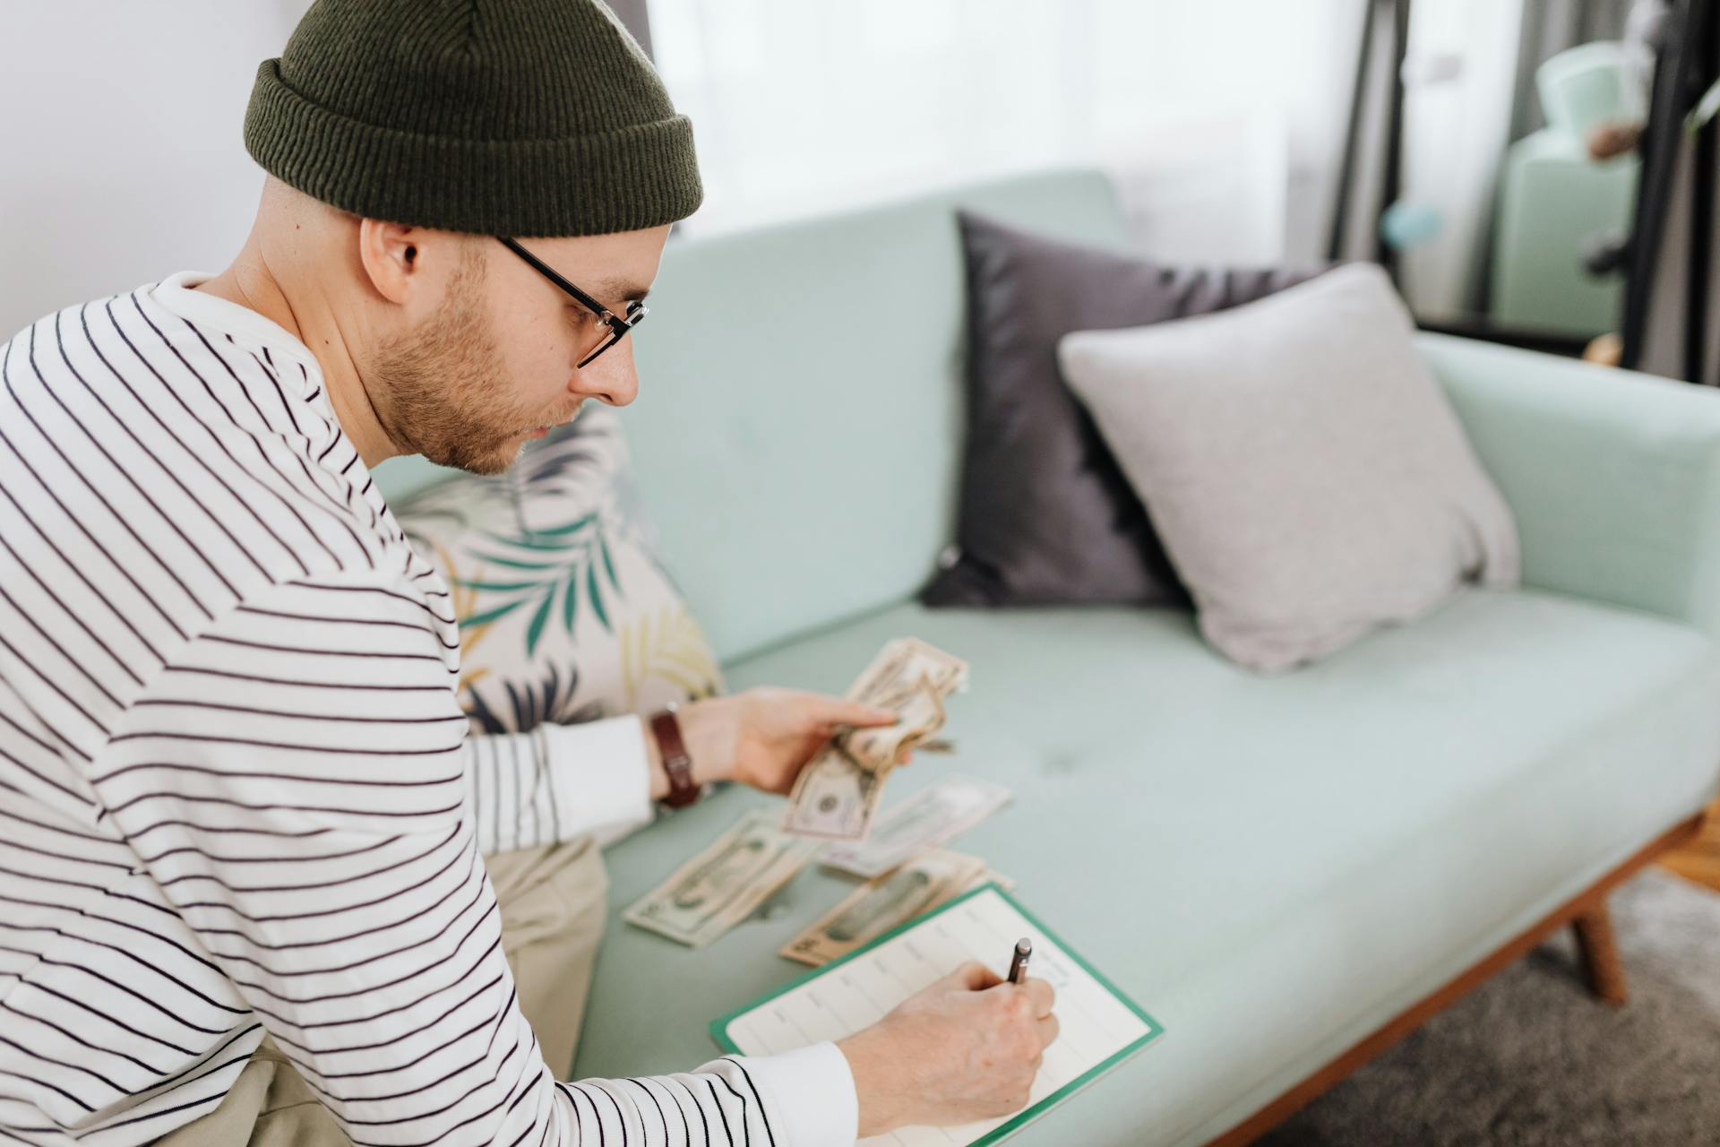
[[[506,475],[396,507],[459,617],[459,695],[480,733],[648,712],[722,690],[628,473],[616,411],[590,404]]]

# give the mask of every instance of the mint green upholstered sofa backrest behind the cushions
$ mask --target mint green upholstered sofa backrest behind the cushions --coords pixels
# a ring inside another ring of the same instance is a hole
[[[1106,175],[1061,170],[664,253],[623,426],[664,561],[722,660],[908,598],[953,540],[958,205],[1125,242]],[[401,463],[378,475],[390,495],[435,469]]]

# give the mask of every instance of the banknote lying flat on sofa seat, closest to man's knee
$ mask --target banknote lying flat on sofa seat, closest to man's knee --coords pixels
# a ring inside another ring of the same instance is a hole
[[[815,841],[783,832],[776,813],[750,812],[621,918],[703,948],[750,917],[817,851]]]

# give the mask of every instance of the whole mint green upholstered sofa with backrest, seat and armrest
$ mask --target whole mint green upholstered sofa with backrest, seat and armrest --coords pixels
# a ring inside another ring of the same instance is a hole
[[[1720,394],[1424,337],[1524,586],[1285,676],[1170,609],[927,610],[963,435],[956,203],[1123,244],[1085,170],[671,244],[624,414],[640,483],[731,688],[841,691],[898,635],[972,662],[958,757],[889,798],[949,770],[1013,788],[958,846],[1166,1028],[1018,1142],[1204,1144],[1715,796]],[[762,803],[729,789],[612,848],[616,913]],[[707,1021],[796,975],[776,949],[846,887],[807,870],[703,951],[612,918],[578,1073],[709,1058]]]

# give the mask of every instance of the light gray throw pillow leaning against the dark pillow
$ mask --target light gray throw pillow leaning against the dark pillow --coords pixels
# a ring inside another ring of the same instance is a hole
[[[1517,530],[1385,272],[1058,344],[1206,640],[1287,669],[1517,583]]]

